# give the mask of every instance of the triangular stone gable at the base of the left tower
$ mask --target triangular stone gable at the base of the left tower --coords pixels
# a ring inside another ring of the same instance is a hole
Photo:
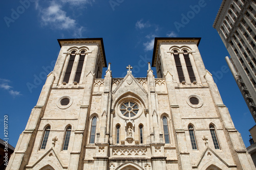
[[[49,159],[46,156],[50,157]],[[64,165],[63,162],[59,159],[58,153],[55,148],[51,148],[47,151],[40,159],[38,159],[33,165],[27,165],[26,168],[33,168],[40,169],[41,167],[37,167],[37,164],[40,162],[39,166],[44,167],[45,165],[49,164],[48,162],[52,162],[53,164],[59,164],[62,168],[67,169],[68,166]],[[45,162],[44,165],[41,165],[41,162]]]

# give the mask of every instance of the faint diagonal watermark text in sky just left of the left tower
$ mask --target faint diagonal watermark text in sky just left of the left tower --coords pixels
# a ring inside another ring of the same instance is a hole
[[[42,81],[47,78],[48,74],[53,70],[53,68],[55,66],[55,63],[56,63],[56,61],[53,60],[51,62],[51,65],[48,65],[46,67],[42,66],[43,71],[41,71],[39,73],[39,75],[36,75],[36,74],[33,75],[34,76],[34,81],[32,83],[30,83],[30,82],[26,83],[30,93],[32,93],[32,90],[34,88],[37,88],[42,83]]]

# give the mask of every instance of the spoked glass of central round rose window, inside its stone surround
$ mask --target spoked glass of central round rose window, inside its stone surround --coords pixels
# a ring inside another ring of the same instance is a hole
[[[133,117],[139,112],[139,106],[137,103],[126,102],[122,103],[120,107],[122,115],[126,117]]]

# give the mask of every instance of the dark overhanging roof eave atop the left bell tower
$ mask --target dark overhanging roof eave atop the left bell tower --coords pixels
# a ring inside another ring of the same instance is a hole
[[[100,53],[104,59],[103,67],[106,67],[106,56],[103,45],[103,38],[72,38],[72,39],[58,39],[59,46],[61,47],[64,44],[82,44],[82,43],[95,43],[100,42]]]

